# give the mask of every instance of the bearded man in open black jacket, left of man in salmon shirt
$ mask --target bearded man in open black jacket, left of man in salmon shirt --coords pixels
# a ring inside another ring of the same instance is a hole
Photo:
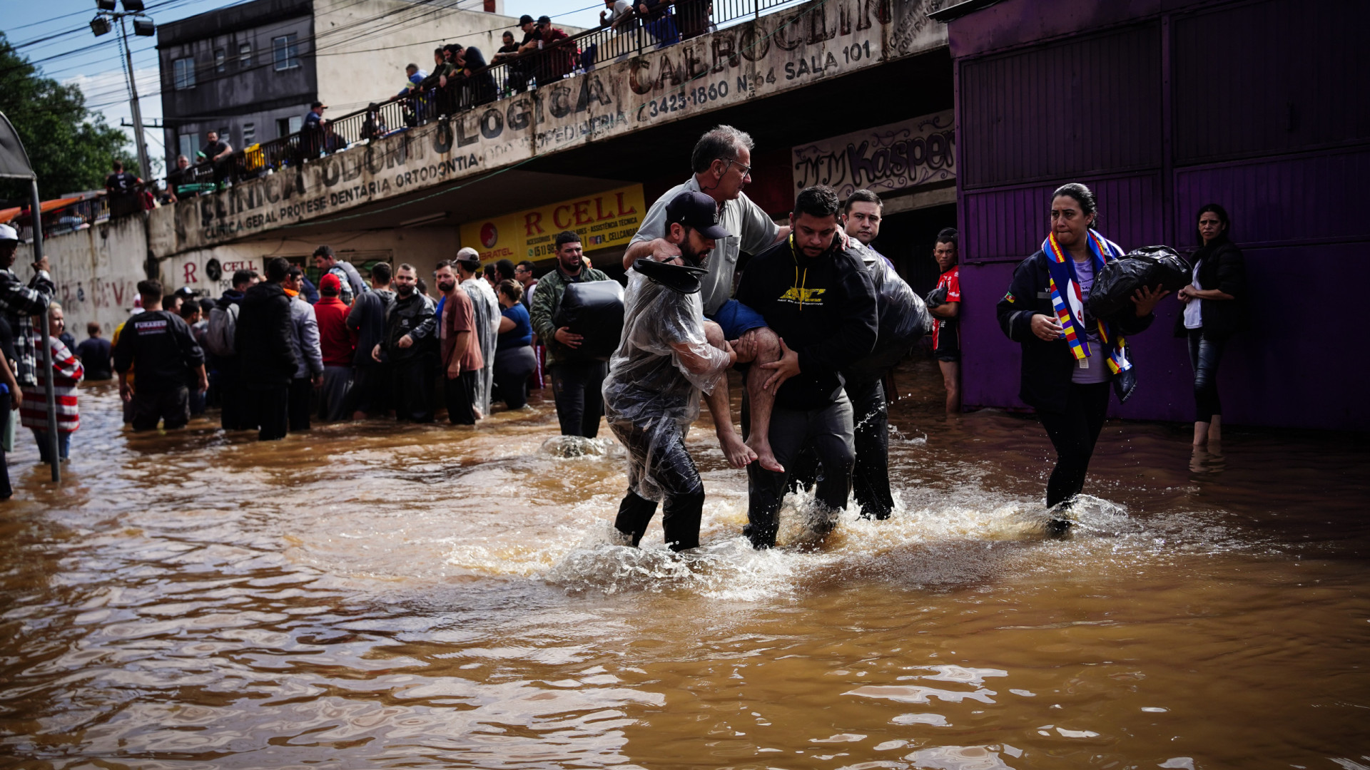
[[[395,417],[433,422],[433,378],[429,348],[437,332],[433,300],[418,292],[412,264],[395,269],[395,301],[385,308],[385,337],[371,348],[371,359],[390,363]]]

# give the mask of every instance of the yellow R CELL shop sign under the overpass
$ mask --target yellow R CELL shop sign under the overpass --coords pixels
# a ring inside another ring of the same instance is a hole
[[[462,245],[481,252],[481,262],[537,262],[556,252],[553,240],[562,230],[577,233],[586,252],[626,245],[637,234],[645,215],[643,185],[629,185],[518,214],[467,222],[462,225]]]

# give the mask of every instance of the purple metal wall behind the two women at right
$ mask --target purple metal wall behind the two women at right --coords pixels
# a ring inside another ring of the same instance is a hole
[[[1370,429],[1370,366],[1340,332],[1370,285],[1367,22],[1352,0],[1006,0],[954,21],[964,401],[1023,407],[993,306],[1051,189],[1084,181],[1125,248],[1191,249],[1201,204],[1232,214],[1252,327],[1219,374],[1229,422]],[[1114,414],[1193,419],[1178,311],[1133,337],[1141,386]]]

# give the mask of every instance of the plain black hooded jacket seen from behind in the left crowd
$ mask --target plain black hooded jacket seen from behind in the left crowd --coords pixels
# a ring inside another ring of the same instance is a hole
[[[297,369],[290,336],[290,297],[279,284],[258,284],[242,295],[234,348],[249,390],[289,388]]]

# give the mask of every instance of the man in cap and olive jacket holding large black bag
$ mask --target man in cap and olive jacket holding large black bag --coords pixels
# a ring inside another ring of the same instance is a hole
[[[533,332],[547,345],[547,367],[552,371],[552,396],[556,399],[556,418],[562,436],[595,438],[599,418],[604,414],[603,360],[575,359],[575,348],[584,337],[569,327],[552,323],[562,304],[562,293],[569,284],[582,281],[612,281],[603,271],[584,262],[581,237],[570,230],[556,234],[556,269],[543,275],[533,299]]]

